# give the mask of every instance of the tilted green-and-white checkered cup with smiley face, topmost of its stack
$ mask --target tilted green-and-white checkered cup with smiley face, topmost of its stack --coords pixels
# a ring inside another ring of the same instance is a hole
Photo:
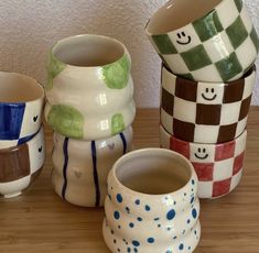
[[[242,0],[171,0],[145,31],[169,69],[197,81],[240,78],[259,50]]]

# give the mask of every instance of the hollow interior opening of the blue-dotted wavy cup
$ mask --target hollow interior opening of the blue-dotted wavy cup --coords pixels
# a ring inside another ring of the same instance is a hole
[[[116,177],[125,187],[148,195],[165,195],[191,179],[191,164],[180,154],[147,148],[131,152],[116,165]]]

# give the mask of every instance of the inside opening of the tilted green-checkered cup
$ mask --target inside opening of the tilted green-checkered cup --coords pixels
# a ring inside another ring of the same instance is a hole
[[[147,31],[152,35],[159,35],[177,30],[203,18],[222,1],[224,0],[171,0],[154,13]]]

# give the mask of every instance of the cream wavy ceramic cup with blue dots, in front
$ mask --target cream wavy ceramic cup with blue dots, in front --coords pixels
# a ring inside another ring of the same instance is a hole
[[[187,253],[198,244],[197,177],[182,155],[162,148],[125,155],[108,193],[102,233],[111,252]]]

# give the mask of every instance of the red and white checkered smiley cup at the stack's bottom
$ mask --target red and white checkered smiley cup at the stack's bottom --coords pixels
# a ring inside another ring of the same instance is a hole
[[[160,128],[160,143],[188,158],[198,176],[198,197],[218,198],[239,184],[242,174],[247,131],[222,144],[185,142]]]

